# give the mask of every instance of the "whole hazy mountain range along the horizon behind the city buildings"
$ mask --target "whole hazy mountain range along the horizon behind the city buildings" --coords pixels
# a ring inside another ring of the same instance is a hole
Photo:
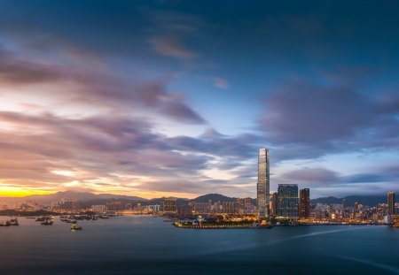
[[[138,196],[129,195],[113,195],[113,194],[93,194],[90,192],[75,192],[75,191],[63,191],[57,192],[51,195],[27,195],[24,197],[0,197],[0,202],[24,202],[34,201],[39,203],[50,203],[57,202],[61,199],[74,199],[82,202],[82,206],[90,207],[93,204],[106,204],[109,201],[124,201],[124,202],[140,202],[143,205],[160,204],[163,198],[145,199]],[[237,198],[229,197],[220,194],[207,194],[200,195],[194,199],[176,198],[177,205],[186,204],[188,202],[235,202]],[[325,204],[341,204],[342,200],[346,200],[346,205],[352,206],[356,202],[364,205],[377,205],[378,203],[387,202],[387,195],[348,195],[343,198],[337,198],[334,196],[321,197],[311,200],[313,204],[325,203]],[[255,203],[256,200],[252,199]]]

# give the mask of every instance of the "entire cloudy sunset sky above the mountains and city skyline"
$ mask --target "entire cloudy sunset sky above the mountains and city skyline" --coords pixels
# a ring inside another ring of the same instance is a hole
[[[0,196],[399,191],[399,2],[0,0]]]

